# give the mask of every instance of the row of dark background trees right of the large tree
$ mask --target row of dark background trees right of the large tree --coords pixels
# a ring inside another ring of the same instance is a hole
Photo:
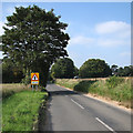
[[[113,64],[108,65],[104,60],[89,59],[78,70],[71,59],[64,58],[58,60],[51,69],[51,76],[59,79],[79,78],[106,78],[111,75],[133,76],[133,65],[119,68]]]

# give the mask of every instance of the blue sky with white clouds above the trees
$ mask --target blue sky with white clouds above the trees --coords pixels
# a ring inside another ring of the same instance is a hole
[[[89,59],[101,59],[109,65],[131,65],[130,2],[2,2],[0,25],[14,12],[14,7],[33,4],[47,11],[54,9],[60,21],[69,24],[66,51],[75,66]]]

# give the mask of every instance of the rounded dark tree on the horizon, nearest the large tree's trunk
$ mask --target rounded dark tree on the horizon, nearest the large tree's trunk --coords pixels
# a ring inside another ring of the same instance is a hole
[[[51,74],[54,78],[71,79],[75,75],[75,66],[71,59],[59,59],[51,69]]]

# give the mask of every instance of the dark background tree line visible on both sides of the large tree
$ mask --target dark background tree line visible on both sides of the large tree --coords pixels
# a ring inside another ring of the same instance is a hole
[[[1,66],[1,65],[0,65]],[[112,65],[111,68],[100,59],[90,59],[78,69],[73,61],[69,58],[59,59],[49,72],[49,80],[58,79],[73,79],[79,78],[105,78],[110,75],[116,76],[133,76],[133,65],[119,68]],[[14,65],[12,62],[2,63],[2,82],[18,83],[22,82],[24,73],[22,68]],[[30,80],[30,78],[29,78]]]

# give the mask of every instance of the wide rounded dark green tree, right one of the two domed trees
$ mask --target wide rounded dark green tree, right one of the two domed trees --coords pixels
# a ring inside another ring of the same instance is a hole
[[[111,75],[111,69],[104,60],[89,59],[79,71],[80,78],[105,78]]]

